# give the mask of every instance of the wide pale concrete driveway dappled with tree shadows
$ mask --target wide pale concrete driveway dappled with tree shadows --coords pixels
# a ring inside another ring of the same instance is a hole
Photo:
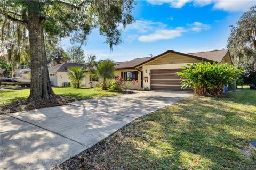
[[[192,95],[145,91],[1,115],[1,169],[51,169],[135,118]]]

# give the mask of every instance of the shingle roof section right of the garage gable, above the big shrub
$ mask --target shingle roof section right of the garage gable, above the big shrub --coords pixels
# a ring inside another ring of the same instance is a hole
[[[210,52],[199,52],[199,53],[188,53],[188,54],[201,57],[207,60],[221,62],[227,53],[228,53],[228,50],[223,49],[223,50],[214,50]]]

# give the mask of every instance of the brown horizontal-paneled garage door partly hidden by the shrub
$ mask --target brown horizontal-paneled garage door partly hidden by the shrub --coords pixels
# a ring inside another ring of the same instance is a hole
[[[151,90],[190,90],[181,89],[180,79],[175,73],[181,69],[151,70]]]

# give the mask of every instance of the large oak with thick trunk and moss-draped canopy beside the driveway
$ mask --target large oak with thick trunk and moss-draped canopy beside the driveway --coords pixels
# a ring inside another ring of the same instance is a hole
[[[133,0],[1,1],[2,31],[6,30],[4,27],[15,25],[13,28],[24,27],[28,32],[31,57],[31,90],[28,101],[56,97],[47,69],[45,39],[71,37],[72,43],[83,44],[91,30],[98,28],[112,50],[113,45],[121,43],[120,25],[125,27],[133,22],[133,5]],[[4,24],[6,21],[12,24]],[[12,28],[7,28],[10,29]],[[7,36],[7,33],[3,35]]]

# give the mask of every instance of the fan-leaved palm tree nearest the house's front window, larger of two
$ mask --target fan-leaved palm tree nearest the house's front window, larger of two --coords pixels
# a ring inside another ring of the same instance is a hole
[[[115,61],[111,59],[93,61],[94,67],[89,69],[89,73],[94,76],[101,78],[103,80],[102,90],[106,90],[106,81],[114,77]]]

